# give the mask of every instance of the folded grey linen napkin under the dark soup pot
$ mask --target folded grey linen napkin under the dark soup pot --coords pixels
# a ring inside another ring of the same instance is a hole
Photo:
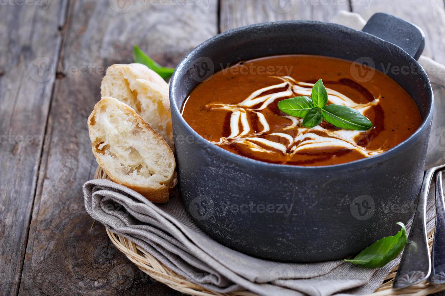
[[[139,193],[105,179],[86,182],[85,208],[107,229],[134,241],[174,272],[207,289],[250,290],[260,295],[372,293],[400,261],[368,269],[342,260],[295,264],[262,260],[219,244],[191,220],[178,196],[153,204]],[[427,229],[434,226],[434,190]],[[407,223],[409,231],[412,219]],[[313,246],[316,248],[316,246]]]

